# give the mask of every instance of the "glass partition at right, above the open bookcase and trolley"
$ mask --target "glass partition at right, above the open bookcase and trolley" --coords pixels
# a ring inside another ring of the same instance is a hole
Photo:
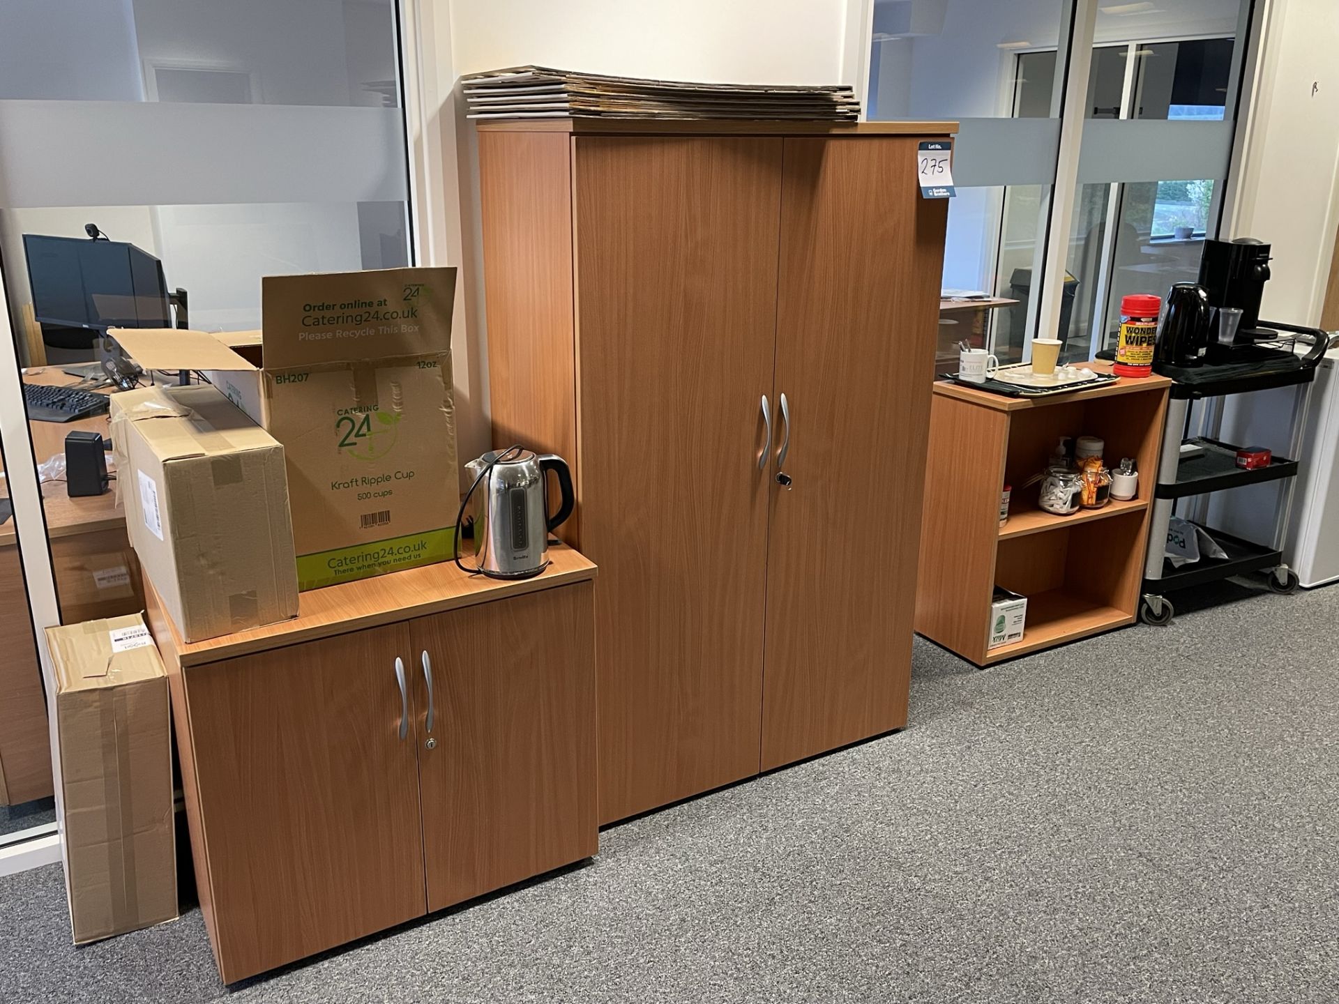
[[[1027,357],[1044,295],[1062,357],[1091,359],[1122,296],[1196,278],[1253,15],[1252,0],[876,0],[869,118],[961,123],[941,365],[964,335],[1002,363]],[[1066,114],[1083,75],[1082,115]],[[1066,220],[1067,240],[1050,241]]]

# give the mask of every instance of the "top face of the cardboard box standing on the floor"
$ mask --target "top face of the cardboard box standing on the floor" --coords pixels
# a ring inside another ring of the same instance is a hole
[[[138,613],[47,628],[47,647],[58,693],[163,676],[162,659]]]

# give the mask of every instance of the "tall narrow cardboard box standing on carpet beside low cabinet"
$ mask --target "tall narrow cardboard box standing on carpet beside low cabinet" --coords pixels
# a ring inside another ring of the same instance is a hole
[[[143,618],[47,628],[76,945],[177,916],[167,677]]]

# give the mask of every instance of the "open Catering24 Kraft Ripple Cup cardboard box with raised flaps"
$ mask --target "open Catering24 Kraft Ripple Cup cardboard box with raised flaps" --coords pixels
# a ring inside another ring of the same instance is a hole
[[[258,361],[254,332],[115,336],[146,368],[205,372],[284,444],[299,588],[315,589],[453,554],[454,299],[455,269],[268,276]]]

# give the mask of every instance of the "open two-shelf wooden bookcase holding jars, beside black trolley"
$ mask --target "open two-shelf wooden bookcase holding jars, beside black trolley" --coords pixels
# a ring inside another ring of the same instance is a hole
[[[1101,368],[1101,364],[1094,364]],[[1134,622],[1170,380],[1152,376],[1030,400],[935,384],[916,631],[976,665]],[[1097,435],[1138,463],[1139,494],[1055,515],[1036,487],[1060,436]],[[999,525],[1000,490],[1015,486]],[[995,585],[1027,597],[1023,637],[987,648]]]

